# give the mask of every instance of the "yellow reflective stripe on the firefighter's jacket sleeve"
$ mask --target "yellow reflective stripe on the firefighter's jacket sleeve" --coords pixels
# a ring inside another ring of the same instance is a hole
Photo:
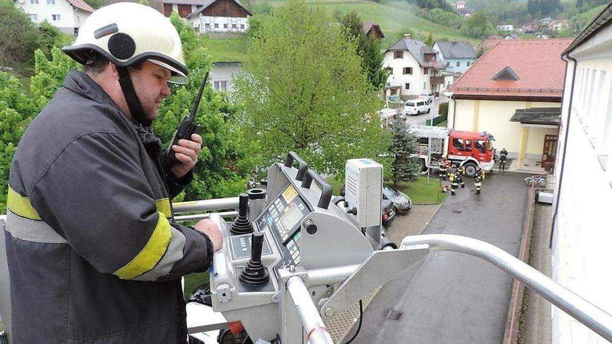
[[[162,259],[168,244],[170,244],[172,232],[170,231],[170,222],[164,217],[164,214],[158,212],[158,215],[157,225],[147,244],[130,263],[113,272],[114,275],[125,280],[133,279],[151,270]]]

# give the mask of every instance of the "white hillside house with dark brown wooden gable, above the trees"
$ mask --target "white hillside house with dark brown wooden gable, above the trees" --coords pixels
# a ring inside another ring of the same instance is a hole
[[[187,1],[187,0],[172,0]],[[165,5],[164,5],[165,6]],[[246,32],[251,12],[236,0],[207,0],[196,10],[185,16],[196,31]]]

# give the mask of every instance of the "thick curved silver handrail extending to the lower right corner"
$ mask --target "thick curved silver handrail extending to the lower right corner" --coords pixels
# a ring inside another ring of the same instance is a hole
[[[467,253],[493,263],[530,286],[551,304],[561,308],[580,323],[612,342],[612,315],[506,251],[478,239],[450,234],[406,236],[401,241],[402,248],[420,244],[429,245],[430,250]]]

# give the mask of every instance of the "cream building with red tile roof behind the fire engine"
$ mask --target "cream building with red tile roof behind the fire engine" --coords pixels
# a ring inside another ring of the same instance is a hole
[[[571,40],[503,40],[449,90],[448,127],[495,136],[518,170],[550,170]]]

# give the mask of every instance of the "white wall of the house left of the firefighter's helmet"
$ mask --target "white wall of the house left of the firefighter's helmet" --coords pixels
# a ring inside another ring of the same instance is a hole
[[[48,0],[21,0],[14,1],[15,7],[21,9],[26,14],[36,14],[37,19],[32,20],[35,23],[42,23],[47,20],[53,26],[58,27],[65,34],[73,34],[75,26],[75,15],[73,7],[66,0],[55,0],[55,4],[48,4]],[[38,4],[32,4],[32,1],[38,1]],[[59,14],[60,20],[53,20],[53,15]],[[82,22],[81,22],[82,23]]]

